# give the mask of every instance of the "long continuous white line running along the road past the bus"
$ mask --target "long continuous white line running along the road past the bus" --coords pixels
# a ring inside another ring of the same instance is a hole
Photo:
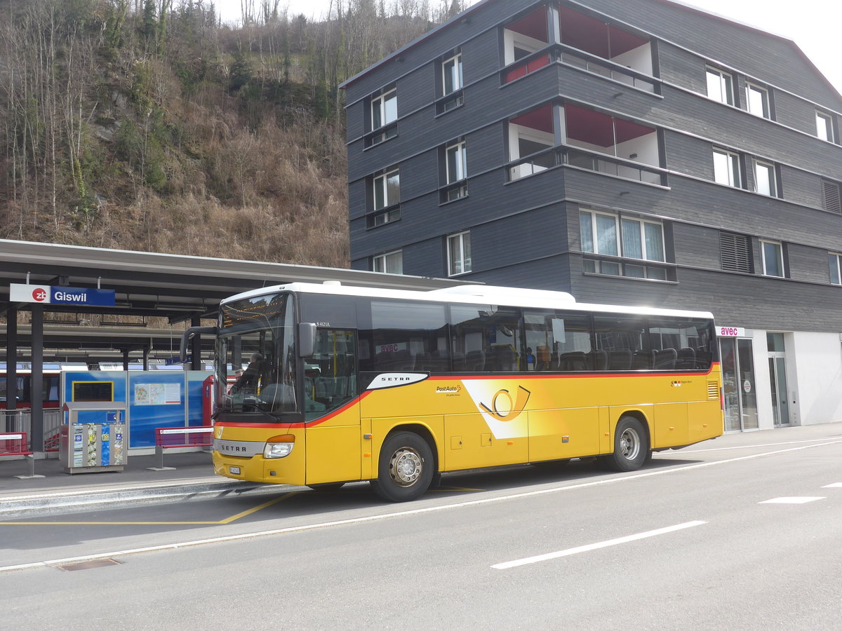
[[[185,541],[182,543],[176,544],[162,544],[151,546],[149,548],[136,548],[136,549],[126,549],[126,550],[115,550],[114,552],[104,552],[100,554],[85,554],[82,556],[76,557],[68,557],[67,559],[51,559],[48,561],[35,561],[34,563],[24,563],[21,565],[6,565],[0,566],[0,572],[8,572],[12,570],[26,570],[29,568],[35,567],[51,567],[53,565],[65,565],[67,563],[78,563],[82,561],[93,561],[97,559],[109,559],[110,557],[115,556],[123,556],[125,554],[136,554],[139,552],[154,552],[159,550],[174,550],[179,548],[189,548],[197,545],[204,545],[204,544],[217,544],[222,542],[228,541],[240,541],[243,539],[250,539],[250,538],[257,538],[257,537],[269,537],[271,535],[276,534],[285,534],[285,533],[301,533],[308,530],[317,530],[319,528],[329,528],[333,526],[344,526],[346,524],[352,523],[362,523],[362,522],[374,522],[379,521],[381,519],[389,519],[391,517],[404,517],[407,515],[420,515],[426,512],[439,512],[439,511],[448,511],[453,508],[463,508],[465,506],[480,506],[482,504],[492,504],[498,501],[508,501],[508,500],[517,500],[522,497],[536,497],[546,495],[547,493],[557,493],[563,490],[576,490],[576,489],[584,489],[590,486],[601,486],[601,485],[610,485],[610,484],[619,484],[621,482],[626,482],[628,480],[638,480],[640,478],[648,478],[652,477],[653,475],[666,475],[670,473],[677,473],[680,471],[687,471],[690,469],[702,469],[704,467],[714,467],[719,464],[729,464],[734,462],[741,462],[743,460],[751,460],[755,458],[764,458],[765,456],[774,456],[779,453],[789,453],[794,451],[802,451],[803,449],[812,449],[814,447],[824,447],[826,445],[836,445],[842,443],[842,440],[834,440],[829,441],[827,443],[816,443],[811,445],[804,445],[802,447],[793,447],[790,449],[776,449],[775,451],[765,452],[765,453],[753,453],[749,456],[738,456],[737,458],[729,458],[725,460],[714,460],[712,462],[704,462],[704,463],[697,463],[697,464],[687,464],[685,466],[674,466],[674,467],[664,467],[663,469],[658,469],[655,471],[647,471],[645,473],[638,473],[632,475],[613,475],[610,478],[606,478],[605,480],[595,480],[593,482],[583,482],[582,484],[578,485],[567,485],[567,486],[553,486],[550,489],[541,489],[541,490],[529,490],[523,493],[514,493],[512,495],[505,495],[505,496],[495,496],[495,497],[486,497],[482,500],[469,500],[469,501],[460,501],[454,504],[444,504],[441,506],[428,506],[426,508],[416,508],[410,511],[398,511],[398,512],[386,512],[386,513],[379,513],[377,515],[370,515],[368,517],[355,517],[353,519],[340,519],[335,522],[321,522],[321,523],[314,523],[314,524],[305,524],[302,526],[290,526],[289,528],[277,528],[274,530],[263,530],[257,533],[242,533],[242,534],[234,534],[229,535],[226,537],[214,537],[214,538],[207,538],[207,539],[196,539],[194,541]]]

